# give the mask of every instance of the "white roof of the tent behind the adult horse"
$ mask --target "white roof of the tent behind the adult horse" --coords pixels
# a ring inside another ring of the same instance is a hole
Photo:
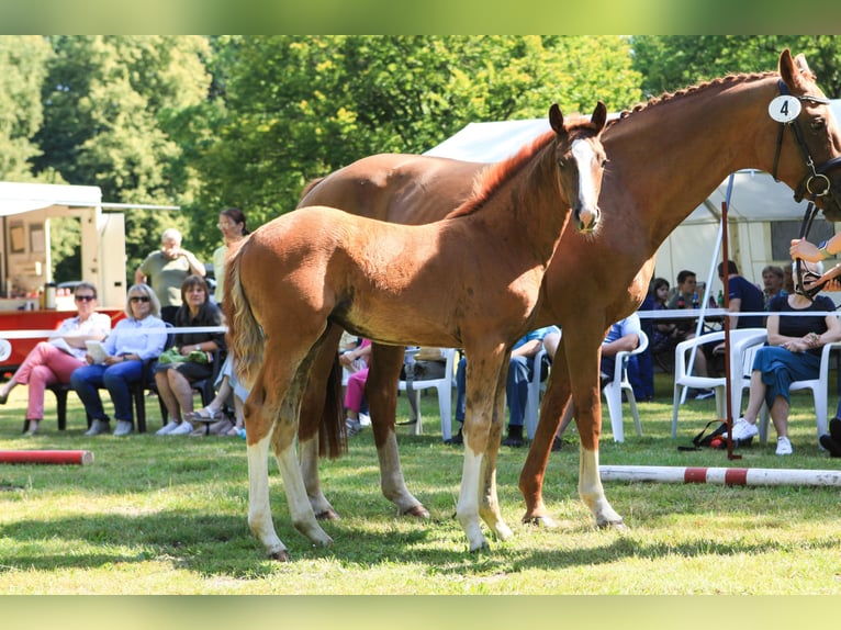
[[[841,121],[841,99],[831,101],[830,106],[836,117]],[[610,117],[617,116],[618,114],[613,114]],[[470,123],[424,155],[466,161],[501,161],[515,155],[526,143],[549,130],[548,119]],[[683,225],[718,223],[727,187],[726,179],[684,220]],[[775,182],[769,173],[756,170],[739,171],[735,175],[728,216],[737,223],[799,221],[806,204],[796,203],[793,195],[793,191],[786,184]]]

